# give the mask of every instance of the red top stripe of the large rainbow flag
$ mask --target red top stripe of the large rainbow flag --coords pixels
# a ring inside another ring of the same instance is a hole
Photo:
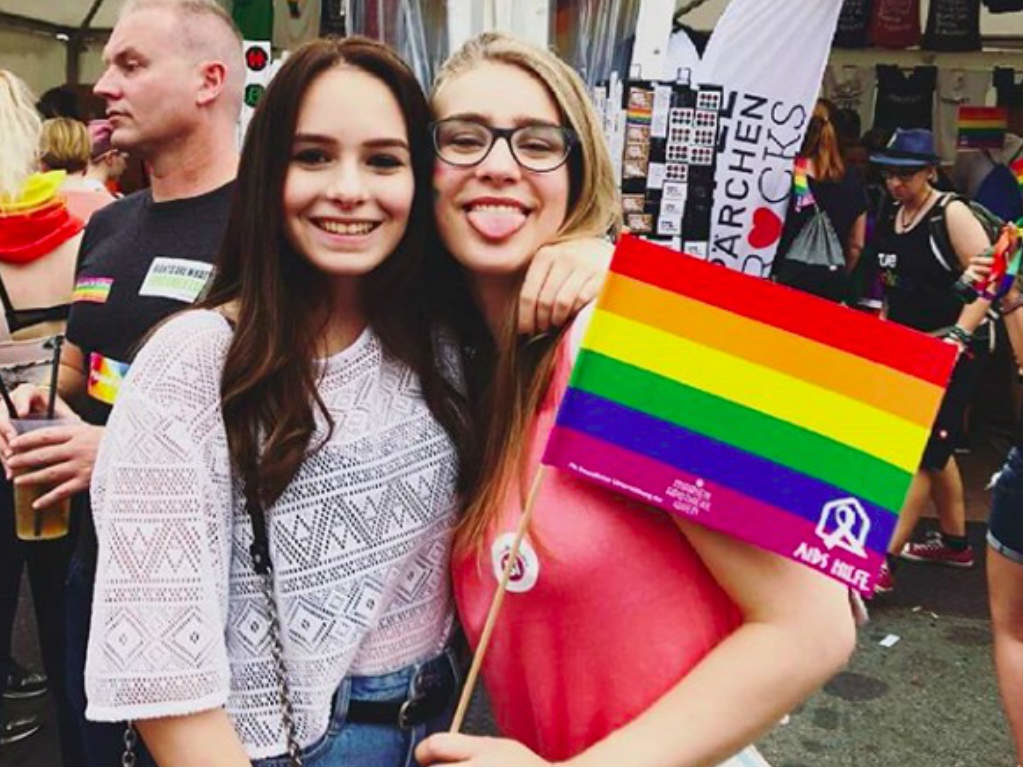
[[[629,234],[618,241],[611,270],[940,387],[945,387],[952,370],[954,348],[918,331]]]

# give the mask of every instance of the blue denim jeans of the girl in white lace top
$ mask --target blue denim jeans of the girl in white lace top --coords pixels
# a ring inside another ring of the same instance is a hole
[[[412,728],[347,721],[348,705],[360,701],[401,701],[418,693],[421,672],[436,672],[449,666],[455,676],[455,690],[445,710]],[[429,662],[376,677],[346,677],[334,694],[334,710],[327,731],[302,751],[303,765],[417,765],[413,751],[431,733],[444,730],[452,722],[462,687],[462,672],[453,650]],[[253,765],[286,766],[287,755],[254,760]]]

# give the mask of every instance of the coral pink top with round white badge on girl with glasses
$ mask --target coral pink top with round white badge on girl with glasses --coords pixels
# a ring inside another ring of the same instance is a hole
[[[531,471],[572,354],[566,334],[535,421]],[[643,713],[740,616],[667,513],[555,469],[546,474],[483,679],[503,735],[546,760],[565,760]],[[459,614],[474,648],[519,510],[516,498],[480,555],[453,561]]]

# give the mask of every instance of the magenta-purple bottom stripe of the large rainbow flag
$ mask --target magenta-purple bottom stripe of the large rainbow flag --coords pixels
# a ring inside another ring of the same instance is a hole
[[[680,512],[673,508],[674,500],[667,497],[665,490],[672,487],[676,480],[694,484],[698,479],[697,475],[573,429],[555,427],[548,441],[544,461],[546,464],[565,469],[612,490],[656,505],[683,519],[699,522],[701,525],[756,544],[790,559],[795,559],[794,553],[801,543],[817,547],[828,554],[828,564],[823,569],[824,572],[831,570],[836,560],[849,563],[853,566],[852,573],[831,575],[867,594],[873,590],[879,569],[882,567],[884,558],[880,552],[868,549],[865,558],[841,549],[826,550],[814,532],[815,523],[725,485],[711,482],[707,477],[699,479],[703,482],[703,488],[711,493],[713,505],[711,510],[696,514]],[[622,471],[623,467],[629,467],[628,475]],[[655,498],[645,499],[635,493],[631,494],[629,489],[613,482],[612,478],[618,478],[623,482],[647,490]],[[872,520],[872,528],[876,524],[884,527],[885,537],[888,539],[895,518],[891,515],[886,517],[888,519],[884,521]],[[863,572],[857,573],[858,570]]]

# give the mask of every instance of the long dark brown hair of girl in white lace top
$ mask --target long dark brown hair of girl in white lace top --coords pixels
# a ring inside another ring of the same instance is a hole
[[[435,365],[434,329],[422,300],[424,255],[438,247],[423,91],[381,43],[358,37],[314,40],[287,59],[249,124],[215,276],[200,304],[230,306],[234,334],[221,377],[221,411],[232,466],[244,477],[258,478],[264,505],[281,495],[305,458],[314,407],[327,421],[328,435],[334,429],[316,390],[322,374],[316,355],[331,311],[329,282],[285,237],[282,198],[302,99],[319,75],[339,65],[373,75],[394,95],[409,132],[416,183],[401,241],[360,281],[361,308],[384,348],[419,375],[424,398],[460,459],[471,439],[464,400]]]

